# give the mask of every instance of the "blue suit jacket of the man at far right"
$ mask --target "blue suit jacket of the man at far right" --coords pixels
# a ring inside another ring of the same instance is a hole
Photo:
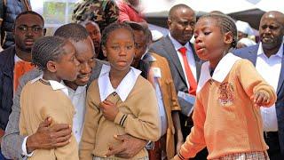
[[[256,66],[257,50],[259,44],[233,51],[233,54],[250,60]],[[284,52],[284,51],[283,51]],[[273,71],[273,70],[272,70]],[[284,154],[284,56],[282,57],[280,79],[277,86],[277,100],[275,103],[278,121],[278,133],[281,153]]]

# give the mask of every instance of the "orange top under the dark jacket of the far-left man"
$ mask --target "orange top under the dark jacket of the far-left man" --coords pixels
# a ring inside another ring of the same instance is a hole
[[[28,61],[20,60],[20,61],[17,61],[15,63],[15,66],[14,66],[14,77],[13,77],[13,79],[14,79],[13,80],[14,92],[17,91],[19,80],[20,80],[20,76],[23,76],[25,73],[27,73],[32,68],[34,68],[34,66],[32,65],[31,62],[28,62]]]

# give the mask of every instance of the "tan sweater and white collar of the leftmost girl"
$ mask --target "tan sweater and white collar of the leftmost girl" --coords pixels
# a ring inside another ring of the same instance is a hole
[[[67,87],[38,77],[26,84],[20,95],[20,135],[32,135],[48,116],[53,124],[73,125],[75,108],[68,98]],[[60,148],[36,149],[28,159],[78,160],[78,144],[72,134],[70,142]]]

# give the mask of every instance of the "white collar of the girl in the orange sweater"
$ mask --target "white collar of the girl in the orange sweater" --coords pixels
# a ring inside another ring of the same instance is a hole
[[[219,83],[222,83],[225,80],[225,77],[229,74],[229,72],[233,68],[234,63],[237,60],[241,60],[241,58],[233,55],[233,53],[231,52],[227,53],[217,64],[212,79],[216,80]],[[202,64],[201,67],[201,76],[199,79],[199,83],[197,85],[196,92],[200,92],[203,85],[206,84],[210,78],[211,76],[209,71],[209,61],[206,61]]]

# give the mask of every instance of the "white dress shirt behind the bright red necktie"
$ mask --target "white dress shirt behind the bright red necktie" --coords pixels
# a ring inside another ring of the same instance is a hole
[[[181,45],[177,42],[176,39],[174,39],[172,36],[170,36],[170,33],[169,33],[169,37],[170,37],[171,43],[175,47],[175,50],[176,50],[177,56],[178,56],[178,60],[179,60],[181,66],[183,68],[184,73],[185,73],[185,64],[184,64],[184,60],[183,60],[183,55],[182,55],[181,52],[178,51],[178,49],[181,48],[181,47],[186,48],[186,58],[187,58],[187,61],[189,62],[189,67],[190,67],[191,71],[193,72],[194,79],[197,82],[196,65],[195,65],[195,59],[194,59],[194,55],[193,55],[194,53],[193,53],[192,47],[189,45],[189,42],[187,42],[185,45]],[[189,88],[189,84],[188,84],[186,74],[185,74],[185,80],[186,80],[187,87]]]

